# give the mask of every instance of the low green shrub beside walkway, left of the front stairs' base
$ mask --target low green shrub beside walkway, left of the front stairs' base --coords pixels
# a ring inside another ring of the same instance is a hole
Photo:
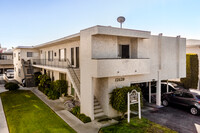
[[[79,106],[75,106],[74,108],[72,108],[71,113],[74,114],[76,117],[78,117],[84,123],[91,122],[90,117],[86,116],[85,114],[80,113]]]

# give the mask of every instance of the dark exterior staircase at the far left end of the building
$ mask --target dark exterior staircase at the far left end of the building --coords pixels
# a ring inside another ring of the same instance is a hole
[[[33,71],[33,66],[31,64],[31,61],[30,60],[25,61],[24,59],[22,59],[21,63],[22,63],[26,87],[34,87],[35,86],[34,71]]]

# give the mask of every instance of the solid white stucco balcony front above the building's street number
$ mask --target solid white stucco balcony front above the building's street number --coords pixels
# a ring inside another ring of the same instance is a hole
[[[93,59],[94,77],[131,76],[150,73],[150,59]]]

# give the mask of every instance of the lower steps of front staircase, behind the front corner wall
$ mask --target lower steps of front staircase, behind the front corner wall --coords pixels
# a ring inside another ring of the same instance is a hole
[[[105,117],[103,109],[101,108],[101,105],[96,97],[94,97],[94,119],[99,119],[103,117]]]

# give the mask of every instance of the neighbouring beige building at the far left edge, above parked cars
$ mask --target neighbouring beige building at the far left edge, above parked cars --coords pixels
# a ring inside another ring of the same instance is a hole
[[[7,69],[13,69],[13,52],[0,52],[0,74],[3,74]]]

